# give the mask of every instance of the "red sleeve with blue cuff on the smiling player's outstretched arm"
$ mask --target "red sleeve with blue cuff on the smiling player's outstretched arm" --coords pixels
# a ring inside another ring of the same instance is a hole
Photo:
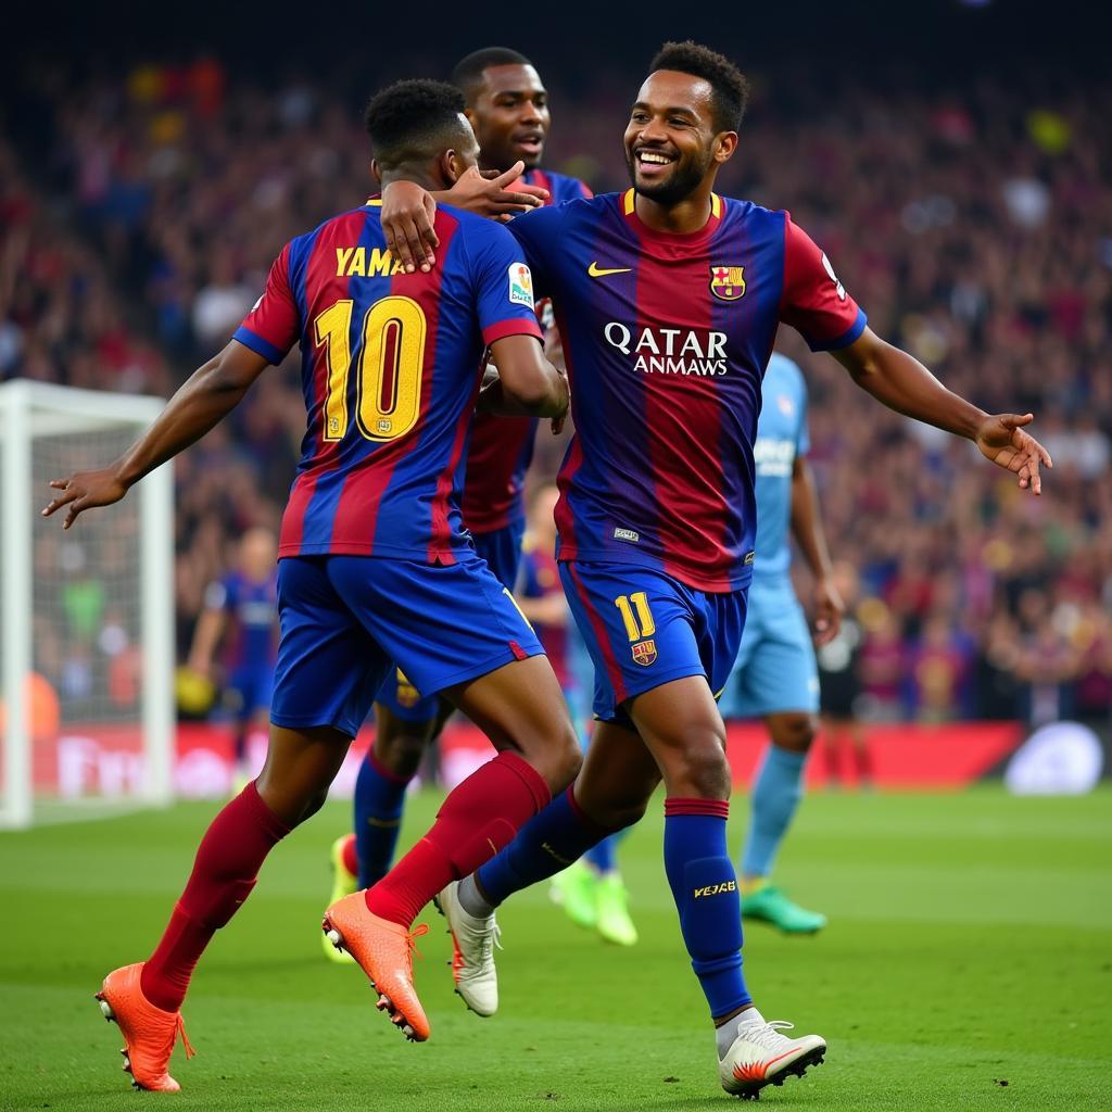
[[[802,332],[812,351],[847,347],[868,322],[838,281],[830,259],[790,214],[784,215],[784,294],[780,319]]]

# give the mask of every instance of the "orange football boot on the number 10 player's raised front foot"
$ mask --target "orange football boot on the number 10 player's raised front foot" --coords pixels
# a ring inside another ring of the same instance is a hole
[[[321,929],[337,950],[346,950],[359,963],[378,990],[375,1006],[388,1012],[410,1042],[424,1042],[429,1026],[414,991],[414,940],[427,934],[428,927],[421,923],[407,931],[400,923],[379,919],[367,907],[365,894],[353,892],[325,912]]]

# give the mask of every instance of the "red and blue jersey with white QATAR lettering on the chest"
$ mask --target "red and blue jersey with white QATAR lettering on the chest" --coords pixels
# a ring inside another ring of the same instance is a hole
[[[553,299],[572,386],[560,559],[745,586],[761,379],[780,322],[831,349],[861,336],[865,315],[787,212],[749,201],[715,195],[691,235],[646,227],[633,190],[508,227]]]

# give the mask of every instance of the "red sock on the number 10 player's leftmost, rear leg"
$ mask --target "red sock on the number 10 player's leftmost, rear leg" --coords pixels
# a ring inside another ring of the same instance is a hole
[[[255,887],[267,854],[289,827],[262,802],[252,781],[212,820],[186,891],[139,980],[156,1006],[176,1012],[209,940]]]

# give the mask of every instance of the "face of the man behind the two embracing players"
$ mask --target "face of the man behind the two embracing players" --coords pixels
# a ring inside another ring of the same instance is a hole
[[[518,159],[526,169],[540,165],[552,118],[548,93],[532,66],[487,67],[467,116],[485,169],[507,170]]]

